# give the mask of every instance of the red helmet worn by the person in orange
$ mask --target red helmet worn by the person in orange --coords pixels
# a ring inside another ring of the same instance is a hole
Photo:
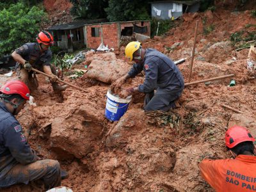
[[[247,129],[235,125],[230,127],[226,132],[225,141],[228,148],[233,148],[239,143],[244,141],[255,141],[255,139],[253,138],[252,134],[247,131]]]

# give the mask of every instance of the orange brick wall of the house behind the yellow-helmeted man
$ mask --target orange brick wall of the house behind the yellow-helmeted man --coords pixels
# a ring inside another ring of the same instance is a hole
[[[101,44],[103,39],[104,45],[108,45],[109,48],[118,49],[121,37],[121,31],[125,27],[133,27],[132,23],[134,22],[120,22],[120,23],[107,23],[107,24],[99,24],[99,25],[92,25],[86,26],[86,42],[87,47],[92,49],[97,49]],[[137,26],[141,26],[141,22],[136,22]],[[120,26],[120,29],[118,29]],[[145,21],[143,22],[143,26],[148,27],[147,33],[143,35],[150,36],[150,22]],[[92,36],[92,28],[99,28],[99,36]]]

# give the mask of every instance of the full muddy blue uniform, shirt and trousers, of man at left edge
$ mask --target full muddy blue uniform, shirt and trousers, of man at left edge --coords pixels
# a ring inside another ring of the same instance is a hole
[[[36,159],[38,157],[27,143],[21,125],[0,102],[0,188],[28,184],[33,180],[42,180],[45,189],[60,186],[60,163]]]

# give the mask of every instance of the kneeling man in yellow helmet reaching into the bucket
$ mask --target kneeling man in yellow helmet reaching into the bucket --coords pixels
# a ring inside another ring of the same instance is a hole
[[[143,49],[140,42],[127,44],[125,56],[136,63],[128,74],[111,85],[111,89],[120,88],[127,79],[134,78],[144,70],[145,80],[143,84],[128,88],[127,92],[130,94],[146,93],[145,111],[169,111],[169,109],[175,108],[175,100],[179,99],[184,89],[184,79],[175,63],[156,49]],[[155,89],[156,93],[154,93]]]

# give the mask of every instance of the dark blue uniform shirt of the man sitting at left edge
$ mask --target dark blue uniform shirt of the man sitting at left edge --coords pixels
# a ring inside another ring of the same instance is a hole
[[[0,102],[0,188],[12,185],[12,178],[5,183],[8,180],[5,175],[15,164],[35,161],[36,154],[29,147],[22,127],[3,102]]]

